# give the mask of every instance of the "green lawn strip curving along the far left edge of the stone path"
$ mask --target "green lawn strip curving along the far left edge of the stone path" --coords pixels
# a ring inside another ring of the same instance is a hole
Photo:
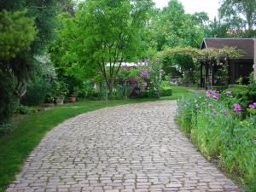
[[[174,100],[178,96],[191,95],[184,87],[172,86],[173,96],[166,96],[160,100]],[[13,181],[15,174],[20,172],[24,160],[32,149],[40,143],[45,133],[65,119],[80,113],[86,113],[99,108],[113,107],[128,103],[153,102],[155,99],[116,100],[116,101],[87,101],[66,104],[43,112],[27,115],[16,125],[8,136],[0,138],[0,192]]]

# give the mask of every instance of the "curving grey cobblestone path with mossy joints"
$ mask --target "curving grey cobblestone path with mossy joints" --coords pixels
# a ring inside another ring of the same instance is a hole
[[[241,191],[183,136],[175,110],[176,102],[147,102],[68,119],[6,191]]]

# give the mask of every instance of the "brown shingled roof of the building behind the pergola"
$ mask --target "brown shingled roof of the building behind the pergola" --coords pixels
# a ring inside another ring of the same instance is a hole
[[[221,49],[225,46],[236,47],[246,52],[242,59],[254,58],[254,41],[253,38],[204,38],[201,49],[216,48]]]

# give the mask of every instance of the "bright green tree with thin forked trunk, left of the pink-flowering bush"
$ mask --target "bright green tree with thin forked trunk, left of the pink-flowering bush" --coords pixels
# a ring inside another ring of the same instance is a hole
[[[61,31],[67,32],[67,49],[79,63],[102,74],[110,97],[121,63],[140,54],[142,27],[151,6],[151,0],[88,0],[79,4],[72,32],[67,32],[70,26]]]

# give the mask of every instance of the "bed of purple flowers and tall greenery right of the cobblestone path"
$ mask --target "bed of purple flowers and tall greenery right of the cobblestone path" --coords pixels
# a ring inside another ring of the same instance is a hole
[[[256,191],[256,103],[242,108],[231,91],[183,98],[177,122],[208,160]]]

